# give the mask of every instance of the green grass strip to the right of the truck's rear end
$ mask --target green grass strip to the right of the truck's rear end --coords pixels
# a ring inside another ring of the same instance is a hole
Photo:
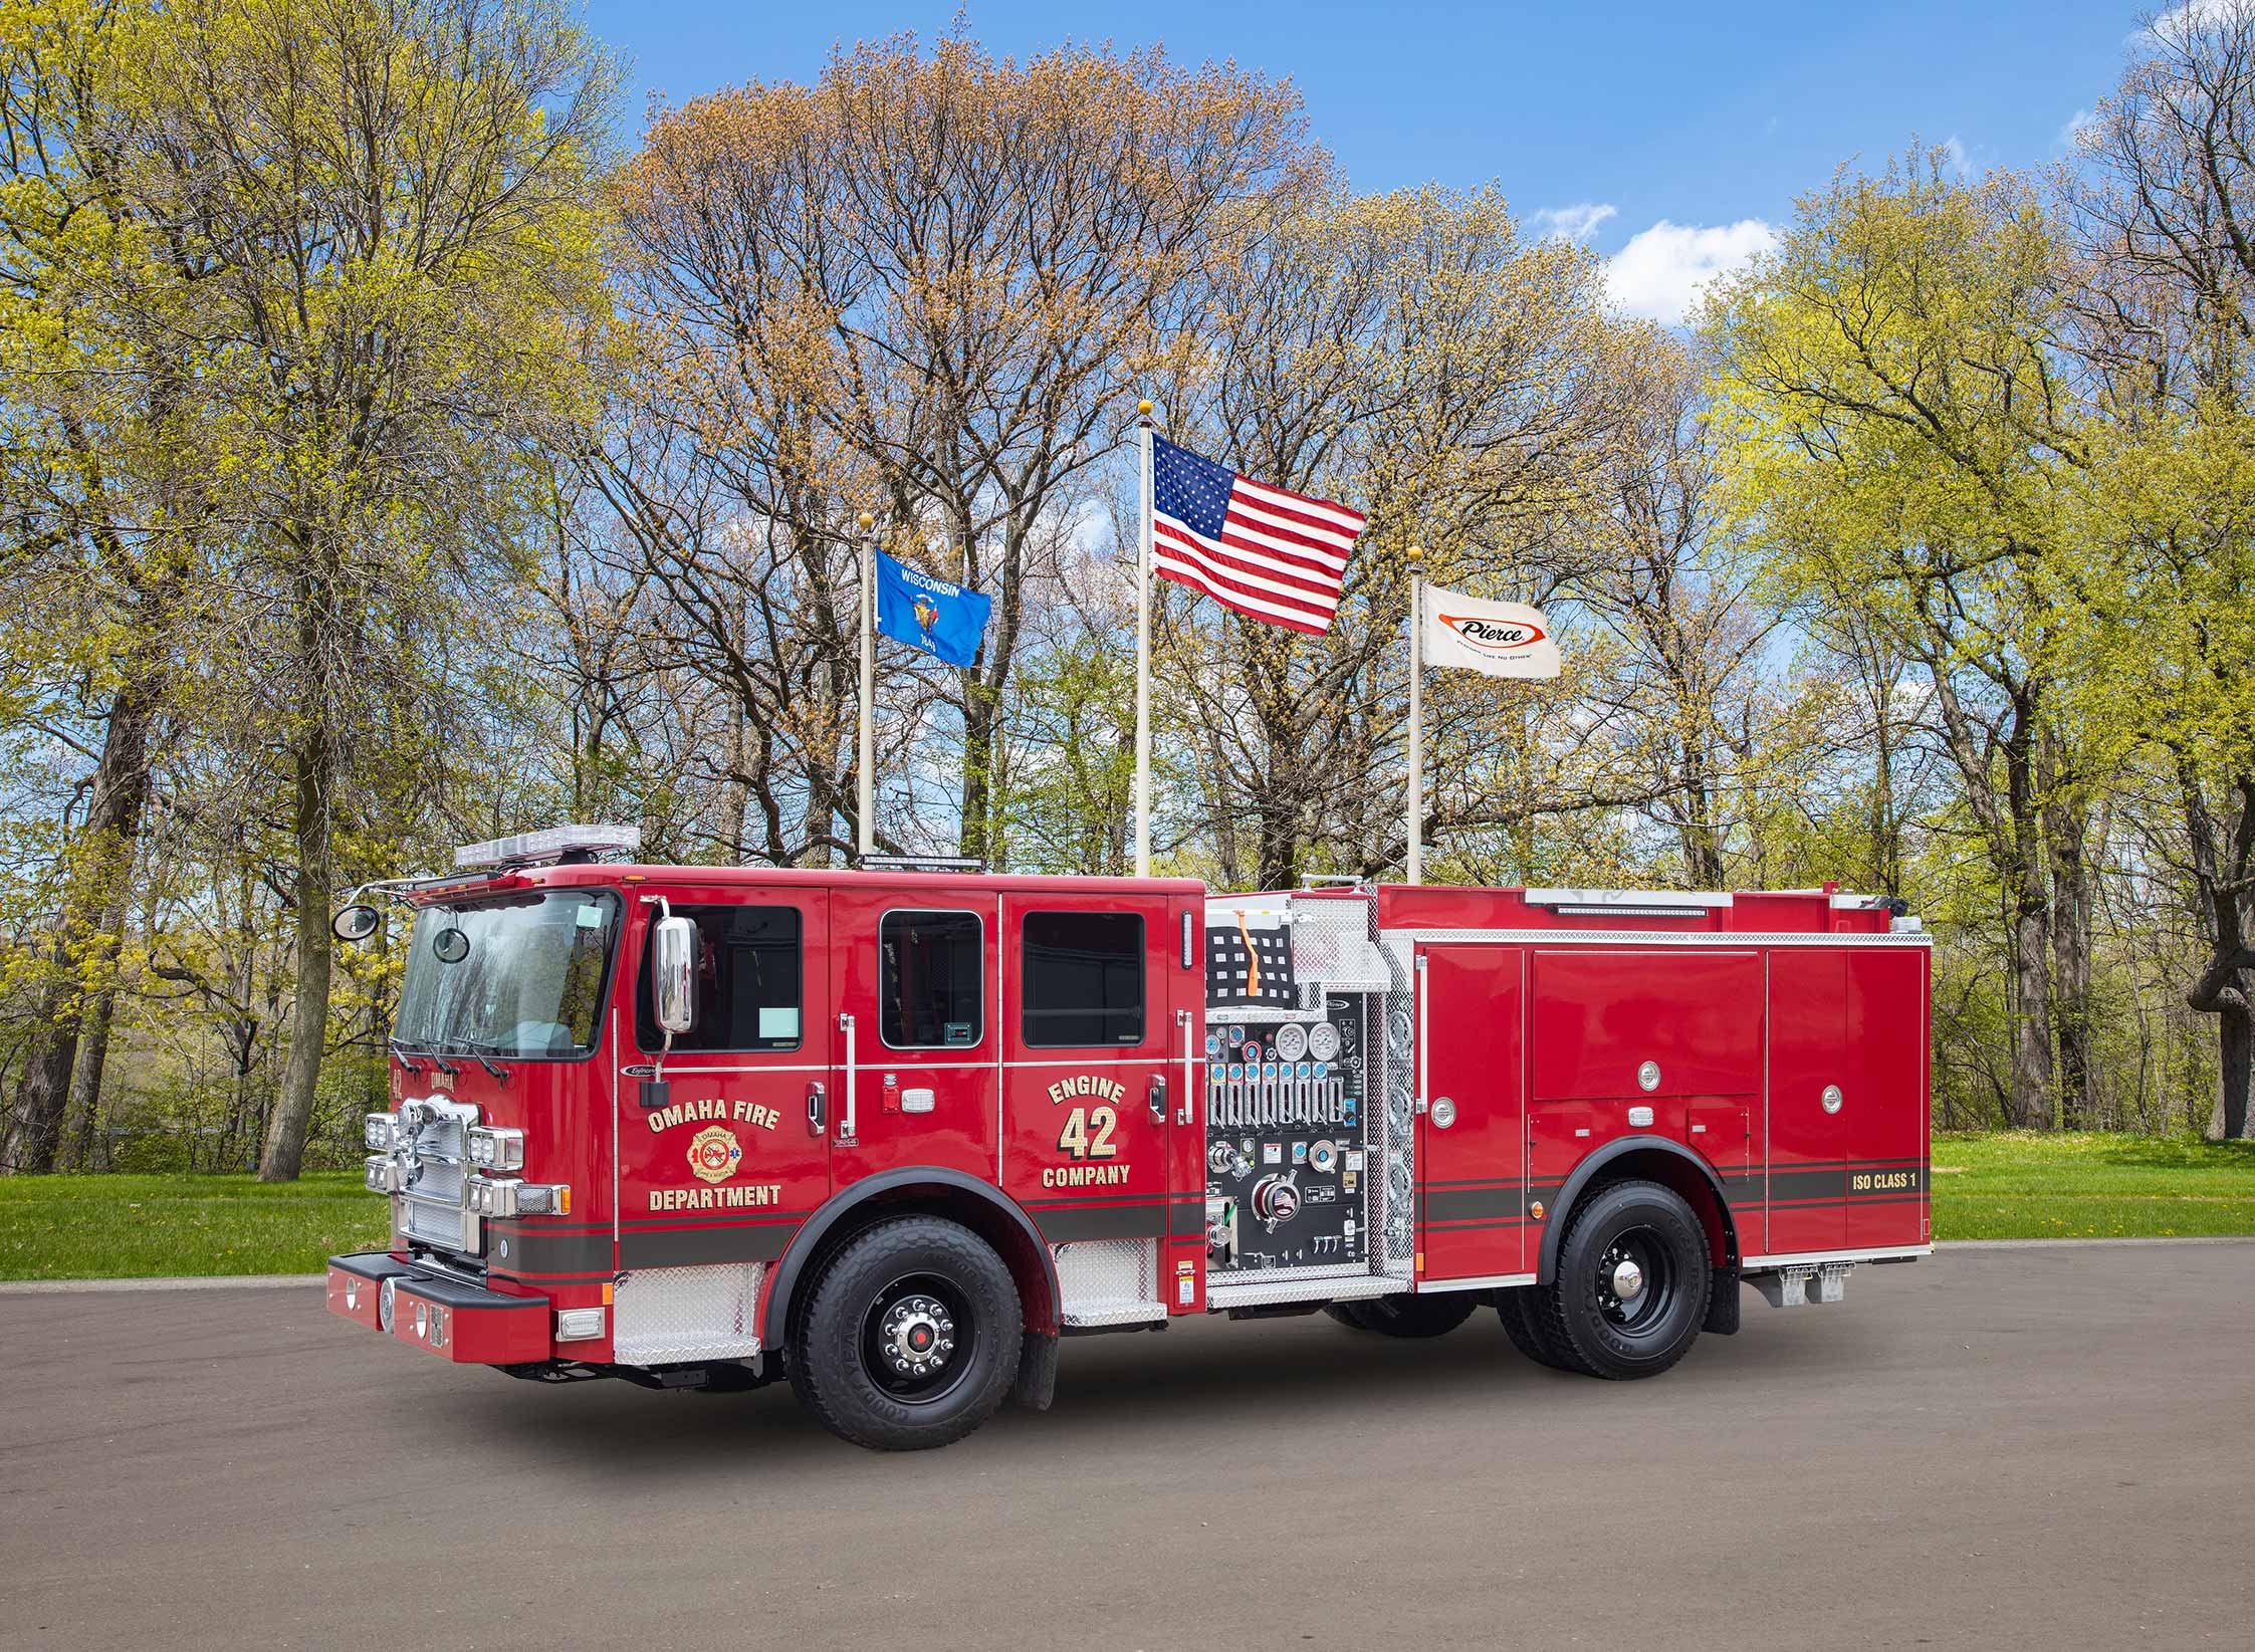
[[[2255,1233],[2255,1143],[1935,1134],[1937,1240]]]

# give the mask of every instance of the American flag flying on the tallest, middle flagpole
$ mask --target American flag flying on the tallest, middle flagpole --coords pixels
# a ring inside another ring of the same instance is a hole
[[[1362,514],[1238,476],[1166,437],[1152,451],[1152,563],[1254,620],[1321,636]]]

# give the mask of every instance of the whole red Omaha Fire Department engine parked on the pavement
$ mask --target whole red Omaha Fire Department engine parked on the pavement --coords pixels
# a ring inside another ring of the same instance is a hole
[[[1651,1377],[1739,1282],[1928,1244],[1928,938],[1770,895],[636,865],[415,911],[386,1251],[329,1309],[514,1377],[787,1377],[868,1447],[1046,1409],[1060,1336],[1328,1312]],[[338,915],[365,940],[368,904]]]

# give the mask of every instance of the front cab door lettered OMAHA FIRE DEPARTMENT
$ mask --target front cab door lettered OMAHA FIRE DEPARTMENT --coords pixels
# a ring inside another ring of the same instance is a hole
[[[697,924],[695,1019],[663,1055],[665,1095],[634,1075],[665,1046],[652,1005],[649,924],[638,906],[634,1046],[618,1086],[618,1267],[767,1262],[830,1197],[830,989],[821,888],[710,883],[667,890]]]

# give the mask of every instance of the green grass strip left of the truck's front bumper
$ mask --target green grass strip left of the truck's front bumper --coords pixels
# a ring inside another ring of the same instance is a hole
[[[0,1176],[0,1280],[318,1273],[388,1237],[356,1170],[253,1176]]]

